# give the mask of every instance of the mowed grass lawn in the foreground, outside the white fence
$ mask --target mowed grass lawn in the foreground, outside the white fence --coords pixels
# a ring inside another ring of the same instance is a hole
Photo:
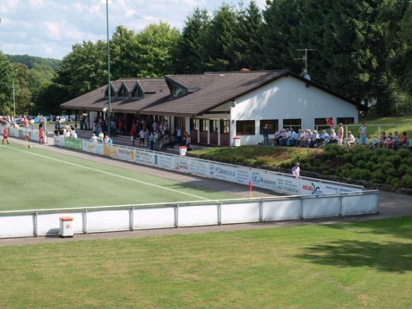
[[[412,217],[0,251],[5,308],[412,308]]]

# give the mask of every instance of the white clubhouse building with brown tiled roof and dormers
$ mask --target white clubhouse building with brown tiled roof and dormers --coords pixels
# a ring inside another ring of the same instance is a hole
[[[233,71],[164,78],[120,78],[111,82],[111,111],[126,122],[139,117],[168,120],[181,127],[192,142],[232,146],[255,145],[279,128],[326,128],[334,123],[358,122],[363,105],[286,70]],[[95,89],[61,105],[89,113],[89,122],[104,117],[108,86]],[[90,126],[89,126],[90,127]]]

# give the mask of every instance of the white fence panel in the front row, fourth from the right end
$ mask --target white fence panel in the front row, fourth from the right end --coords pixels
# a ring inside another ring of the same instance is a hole
[[[222,204],[222,224],[259,221],[260,202]]]

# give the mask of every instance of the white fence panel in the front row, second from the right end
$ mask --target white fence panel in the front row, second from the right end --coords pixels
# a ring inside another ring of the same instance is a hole
[[[339,196],[304,198],[304,218],[339,216],[341,201]]]

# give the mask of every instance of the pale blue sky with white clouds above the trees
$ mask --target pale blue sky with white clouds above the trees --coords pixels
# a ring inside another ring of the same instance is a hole
[[[110,1],[110,0],[109,0]],[[264,8],[265,0],[255,0]],[[248,3],[249,1],[244,1]],[[106,38],[105,0],[0,0],[0,50],[61,59],[71,45]],[[167,21],[179,30],[196,7],[214,12],[222,0],[111,0],[109,31],[122,24],[139,31]],[[238,3],[225,0],[225,3]]]

